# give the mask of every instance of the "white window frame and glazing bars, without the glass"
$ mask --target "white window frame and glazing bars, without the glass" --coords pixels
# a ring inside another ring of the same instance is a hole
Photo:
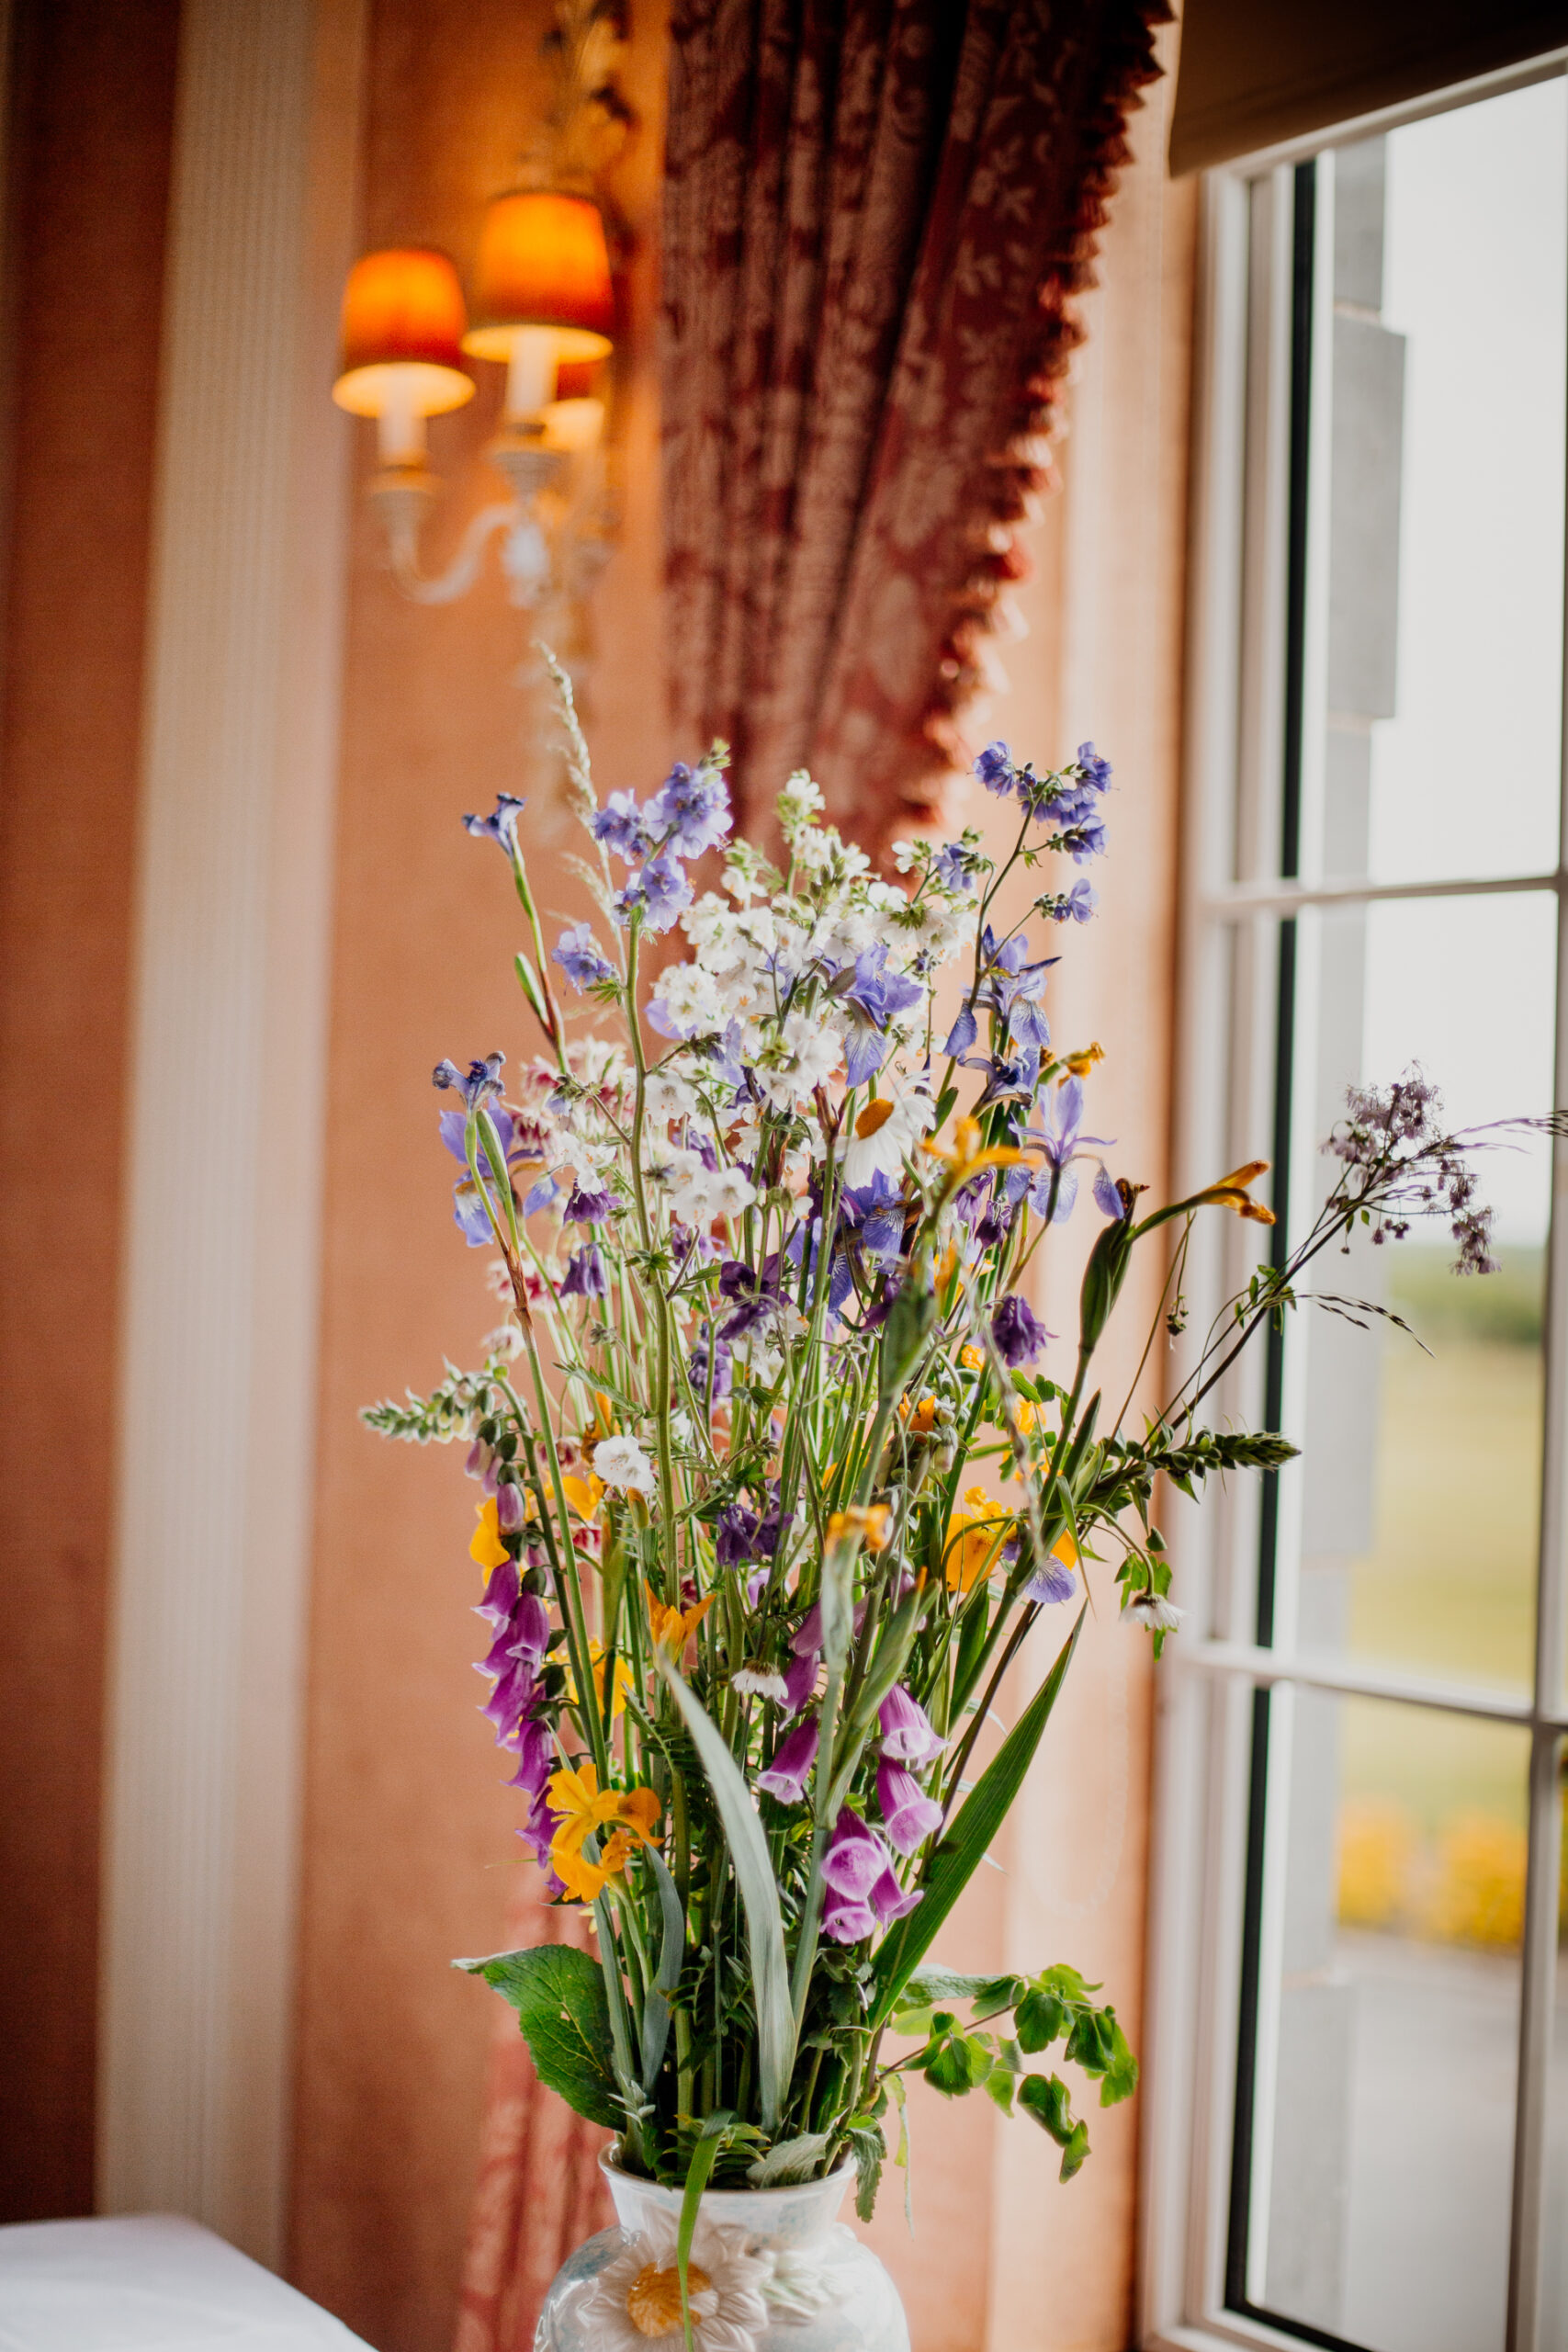
[[[1472,891],[1554,891],[1559,901],[1556,964],[1556,1101],[1568,1103],[1568,715],[1563,724],[1563,828],[1552,873],[1495,882],[1234,882],[1232,823],[1253,807],[1267,826],[1281,807],[1284,750],[1284,595],[1288,499],[1288,266],[1274,268],[1286,292],[1260,339],[1248,329],[1248,183],[1262,174],[1288,179],[1295,162],[1401,122],[1448,111],[1568,71],[1568,49],[1523,68],[1488,75],[1462,89],[1389,108],[1331,134],[1314,134],[1262,155],[1208,172],[1201,186],[1199,308],[1194,341],[1194,473],[1190,546],[1190,668],[1187,668],[1187,821],[1180,882],[1178,988],[1178,1117],[1173,1138],[1178,1192],[1255,1150],[1269,1148],[1274,1101],[1274,1025],[1246,1002],[1260,995],[1234,983],[1237,960],[1269,955],[1272,924],[1314,906],[1385,898],[1441,898]],[[1276,205],[1276,216],[1288,207]],[[1288,226],[1281,230],[1288,235]],[[1331,249],[1319,233],[1319,256]],[[1288,261],[1288,254],[1284,256]],[[1319,320],[1328,289],[1319,294]],[[1284,313],[1284,315],[1279,315]],[[1253,334],[1248,381],[1248,332]],[[1328,386],[1319,381],[1328,334],[1314,334],[1314,463],[1316,508],[1307,532],[1326,524],[1326,463],[1316,449],[1328,428]],[[1251,400],[1251,433],[1248,426]],[[1251,480],[1244,475],[1251,470]],[[1244,548],[1244,534],[1251,546]],[[1244,553],[1248,595],[1244,614]],[[1309,564],[1316,579],[1324,564]],[[1314,762],[1309,729],[1321,713],[1312,673],[1324,642],[1321,616],[1305,626],[1305,793]],[[1568,682],[1568,656],[1563,661]],[[1248,858],[1269,873],[1267,844]],[[1279,873],[1274,856],[1272,870]],[[1246,917],[1253,917],[1248,924]],[[1267,990],[1262,993],[1269,995]],[[1232,1004],[1234,1000],[1234,1004]],[[1265,1035],[1267,1033],[1267,1035]],[[1225,1042],[1227,1040],[1227,1042]],[[1300,1063],[1302,1056],[1298,1056]],[[1295,1136],[1302,1122],[1295,1122]],[[1309,1197],[1319,1171],[1302,1167],[1295,1197]],[[1523,1926],[1523,1999],[1519,2100],[1514,2136],[1514,2223],[1509,2260],[1507,2352],[1549,2352],[1542,2343],[1540,2258],[1544,2230],[1547,2077],[1559,1929],[1559,1755],[1568,1736],[1563,1651],[1568,1637],[1568,1145],[1554,1148],[1554,1218],[1547,1247],[1544,1296],[1544,1430],[1542,1515],[1537,1555],[1537,1658],[1530,1696],[1385,1672],[1345,1658],[1309,1656],[1293,1644],[1288,1623],[1276,1642],[1253,1639],[1258,1578],[1258,1494],[1211,1496],[1201,1512],[1171,1510],[1180,1529],[1180,1559],[1192,1604],[1190,1628],[1168,1646],[1157,1677],[1154,1839],[1150,1865],[1150,1969],[1143,2074],[1143,2199],[1138,2343],[1161,2352],[1220,2352],[1253,2345],[1298,2352],[1302,2340],[1225,2307],[1225,2263],[1232,2194],[1232,2131],[1237,2096],[1241,1936],[1248,1828],[1248,1757],[1253,1693],[1307,1686],[1371,1696],[1415,1708],[1455,1710],[1516,1724],[1530,1738],[1530,1872]],[[1232,1221],[1211,1221],[1232,1228]],[[1206,1235],[1208,1261],[1190,1265],[1194,1315],[1215,1303],[1225,1277],[1248,1261],[1244,1235]],[[1260,1409],[1260,1367],[1251,1388],[1227,1402],[1253,1421]],[[1288,1477],[1291,1472],[1286,1472]],[[1239,1482],[1237,1482],[1239,1484]],[[1178,1517],[1180,1512],[1180,1517]],[[1213,1628],[1208,1635],[1201,1628]],[[1286,1708],[1274,1708],[1274,1715]],[[1288,1736],[1288,1733],[1286,1733]],[[1284,1809],[1276,1809],[1284,1813]],[[1265,1872],[1279,1879],[1279,1872]],[[1267,1919],[1262,1926],[1267,1938]]]

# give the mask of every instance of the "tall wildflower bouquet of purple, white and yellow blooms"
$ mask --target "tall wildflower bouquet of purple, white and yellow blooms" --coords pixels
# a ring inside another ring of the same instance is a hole
[[[604,927],[545,953],[522,802],[468,818],[510,863],[543,1051],[510,1082],[501,1054],[435,1073],[456,1221],[498,1251],[508,1322],[477,1371],[367,1414],[470,1444],[484,1712],[550,1898],[597,1933],[597,1959],[567,1940],[461,1966],[517,2006],[538,2074],[618,2133],[621,2166],[684,2183],[691,2209],[705,2183],[853,2157],[870,2213],[912,2072],[1023,2110],[1070,2178],[1088,2126],[1048,2053],[1103,2105],[1126,2098],[1114,2009],[1072,1966],[954,1976],[931,1945],[1030,1769],[1091,1566],[1114,1562],[1121,1613],[1159,1649],[1178,1611],[1157,1477],[1192,1494],[1293,1451],[1204,1428],[1201,1399],[1307,1256],[1420,1190],[1429,1138],[1380,1129],[1368,1096],[1302,1249],[1131,1435],[1093,1362],[1133,1251],[1178,1237],[1175,1327],[1197,1211],[1272,1216],[1248,1190],[1262,1162],[1140,1214],[1084,1131],[1098,1047],[1053,1042],[1051,960],[997,922],[1016,870],[1100,854],[1105,760],[1086,743],[1037,774],[992,743],[978,776],[1009,854],[973,830],[903,844],[900,882],[792,776],[780,873],[731,837],[722,746],[599,807],[564,710]],[[696,896],[703,854],[722,894]],[[1093,891],[1044,887],[1032,913],[1084,922]],[[677,924],[691,953],[644,981]],[[950,964],[959,1009],[938,1023]],[[1058,1381],[1027,1277],[1074,1207],[1100,1230]],[[1458,1209],[1476,1216],[1469,1195]],[[1072,1604],[976,1769],[1030,1628]]]

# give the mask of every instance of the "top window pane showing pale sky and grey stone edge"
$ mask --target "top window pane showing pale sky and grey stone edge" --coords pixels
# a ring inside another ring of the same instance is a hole
[[[1319,186],[1328,649],[1302,847],[1378,880],[1542,873],[1563,701],[1568,82],[1338,148]]]

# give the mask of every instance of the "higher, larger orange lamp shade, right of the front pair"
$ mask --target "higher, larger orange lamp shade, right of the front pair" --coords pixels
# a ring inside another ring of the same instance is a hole
[[[517,327],[552,327],[562,360],[602,360],[616,299],[592,198],[545,188],[498,195],[480,230],[473,308],[463,350],[480,360],[508,360]]]

